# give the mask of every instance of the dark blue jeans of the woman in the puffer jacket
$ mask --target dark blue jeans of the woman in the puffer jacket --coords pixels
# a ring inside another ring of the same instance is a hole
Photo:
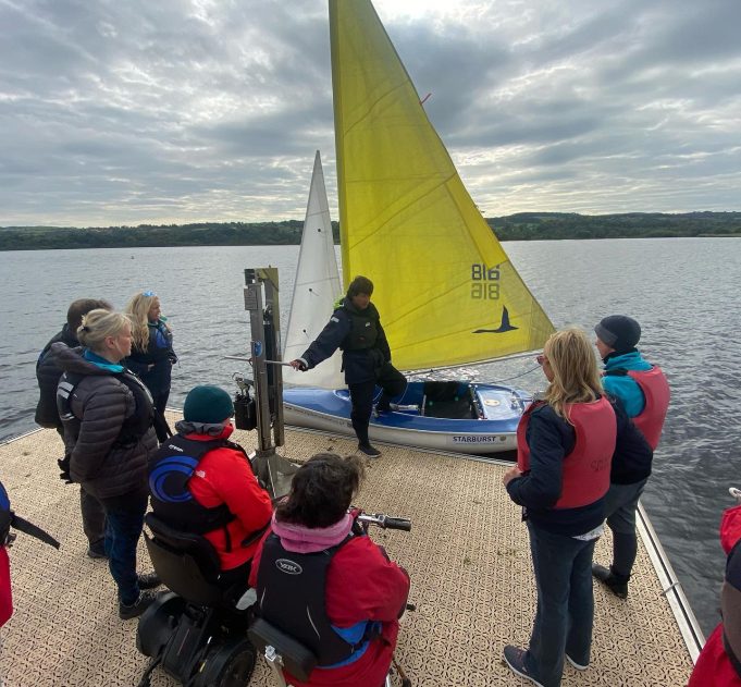
[[[147,495],[122,500],[104,500],[106,555],[111,576],[119,587],[119,600],[131,605],[139,598],[136,573],[136,545],[144,528]]]

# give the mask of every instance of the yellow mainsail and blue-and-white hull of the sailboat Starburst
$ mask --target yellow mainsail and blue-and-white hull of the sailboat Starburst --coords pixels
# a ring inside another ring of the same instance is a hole
[[[330,36],[343,275],[373,281],[394,366],[435,370],[541,349],[553,324],[466,191],[370,0],[330,0]],[[528,396],[411,381],[397,410],[371,419],[370,438],[509,451]],[[284,410],[291,425],[353,433],[345,389],[285,389]]]

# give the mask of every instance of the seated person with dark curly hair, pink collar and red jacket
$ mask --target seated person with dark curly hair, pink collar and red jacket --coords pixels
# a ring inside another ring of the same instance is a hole
[[[317,655],[295,687],[381,687],[392,662],[409,575],[348,513],[363,478],[358,456],[319,453],[294,475],[249,577],[257,614]]]

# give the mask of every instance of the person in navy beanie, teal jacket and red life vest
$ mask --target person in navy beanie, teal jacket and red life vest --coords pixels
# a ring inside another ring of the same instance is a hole
[[[664,372],[643,359],[635,348],[641,326],[631,317],[610,315],[594,328],[595,345],[605,364],[602,383],[625,408],[652,449],[656,449],[669,406],[669,384]],[[592,565],[592,574],[620,599],[628,597],[638,540],[635,510],[651,475],[653,453],[613,459],[610,487],[605,498],[607,525],[613,530],[613,564]]]

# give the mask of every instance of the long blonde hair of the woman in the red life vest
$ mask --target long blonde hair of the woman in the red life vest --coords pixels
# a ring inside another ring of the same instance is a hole
[[[567,422],[567,404],[590,403],[603,393],[597,358],[586,334],[580,329],[564,329],[551,334],[543,346],[553,381],[545,401]]]

